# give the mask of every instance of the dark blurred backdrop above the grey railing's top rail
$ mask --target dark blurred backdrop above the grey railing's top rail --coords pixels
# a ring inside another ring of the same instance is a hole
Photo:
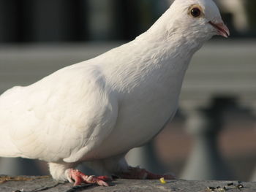
[[[0,0],[0,42],[133,39],[171,0]],[[232,35],[256,35],[255,1],[217,0]]]

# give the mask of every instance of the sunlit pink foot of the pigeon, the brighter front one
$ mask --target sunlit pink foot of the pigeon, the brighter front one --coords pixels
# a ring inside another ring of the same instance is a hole
[[[80,185],[81,183],[97,183],[100,186],[109,186],[108,183],[106,183],[106,181],[111,180],[108,176],[96,177],[94,175],[86,175],[80,172],[78,169],[68,169],[67,178],[70,183],[75,182],[74,186]]]

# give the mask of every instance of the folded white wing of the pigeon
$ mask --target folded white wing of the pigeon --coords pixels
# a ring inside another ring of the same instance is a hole
[[[97,66],[61,69],[0,96],[0,156],[78,161],[110,134],[117,112]]]

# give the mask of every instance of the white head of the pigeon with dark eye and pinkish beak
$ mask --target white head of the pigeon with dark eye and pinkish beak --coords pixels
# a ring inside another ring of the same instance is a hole
[[[196,39],[210,39],[214,35],[228,37],[217,5],[212,0],[175,0],[167,10],[167,30]],[[169,27],[169,28],[168,28]]]

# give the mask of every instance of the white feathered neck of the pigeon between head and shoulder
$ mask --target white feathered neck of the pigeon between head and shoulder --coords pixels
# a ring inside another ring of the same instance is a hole
[[[118,55],[110,66],[110,73],[118,77],[115,82],[127,88],[143,83],[181,87],[189,61],[204,41],[189,38],[175,23],[169,23],[167,30],[163,22],[165,15],[134,41],[113,50]]]

